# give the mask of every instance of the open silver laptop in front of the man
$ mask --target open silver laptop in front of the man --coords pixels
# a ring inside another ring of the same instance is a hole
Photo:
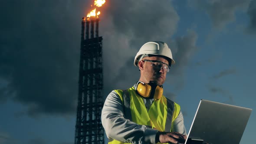
[[[239,144],[251,111],[202,99],[185,144]]]

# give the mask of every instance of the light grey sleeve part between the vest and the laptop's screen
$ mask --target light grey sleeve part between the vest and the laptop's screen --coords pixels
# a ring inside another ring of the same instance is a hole
[[[181,111],[177,116],[177,118],[172,122],[171,131],[176,131],[180,134],[187,135],[186,128],[184,126],[184,119]]]

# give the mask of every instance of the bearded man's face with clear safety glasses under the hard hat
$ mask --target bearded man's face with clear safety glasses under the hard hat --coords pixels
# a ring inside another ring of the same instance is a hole
[[[146,60],[146,61],[144,61]],[[155,65],[154,62],[148,62],[147,60],[159,61],[159,64],[167,66],[169,62],[167,59],[159,56],[144,57],[138,64],[139,69],[141,70],[140,81],[145,83],[155,83],[157,85],[163,85],[166,77],[166,71],[162,68],[161,65]],[[165,65],[165,64],[167,65]],[[158,62],[157,62],[158,64]]]

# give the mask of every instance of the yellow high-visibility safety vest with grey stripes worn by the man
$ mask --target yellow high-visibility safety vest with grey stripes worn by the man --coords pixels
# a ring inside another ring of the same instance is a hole
[[[171,131],[171,123],[181,111],[180,105],[165,98],[164,95],[160,99],[154,99],[147,111],[143,98],[136,94],[134,87],[127,90],[115,90],[115,92],[120,96],[124,105],[125,118],[137,124],[146,125],[148,128]],[[109,138],[108,144],[128,143]]]

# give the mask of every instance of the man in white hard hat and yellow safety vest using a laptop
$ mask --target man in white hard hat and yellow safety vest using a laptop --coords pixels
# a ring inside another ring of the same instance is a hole
[[[102,125],[109,144],[184,143],[187,134],[180,106],[163,95],[166,73],[175,62],[164,42],[145,43],[135,56],[139,81],[114,90],[105,100]]]

